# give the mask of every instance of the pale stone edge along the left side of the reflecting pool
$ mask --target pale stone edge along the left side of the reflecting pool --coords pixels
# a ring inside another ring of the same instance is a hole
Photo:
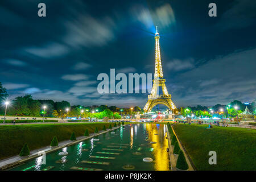
[[[126,125],[123,125],[123,126],[126,126]],[[54,147],[54,148],[51,148],[50,146],[39,148],[39,149],[35,150],[37,152],[34,152],[33,154],[31,154],[30,156],[28,156],[25,159],[20,159],[20,157],[18,155],[13,156],[11,158],[3,159],[2,161],[0,161],[0,171],[4,171],[4,170],[7,170],[7,169],[10,169],[12,167],[15,167],[15,166],[18,166],[20,164],[23,164],[24,162],[27,162],[28,160],[37,158],[38,156],[42,156],[43,154],[39,155],[39,151],[40,152],[45,152],[46,154],[48,154],[50,152],[54,152],[54,151],[60,150],[61,148],[72,146],[73,144],[82,142],[82,141],[84,141],[86,139],[90,139],[90,138],[96,137],[98,135],[101,135],[101,134],[104,134],[104,133],[108,133],[109,131],[113,131],[113,130],[119,129],[120,127],[122,127],[122,126],[113,127],[113,129],[106,129],[106,131],[102,130],[99,133],[93,133],[89,137],[84,137],[84,136],[77,137],[77,138],[81,138],[81,139],[77,139],[75,141],[69,140],[68,143],[61,144],[60,146],[57,146],[57,147]],[[67,141],[68,140],[65,140],[63,142],[67,142]],[[8,161],[10,161],[10,162],[8,162]]]

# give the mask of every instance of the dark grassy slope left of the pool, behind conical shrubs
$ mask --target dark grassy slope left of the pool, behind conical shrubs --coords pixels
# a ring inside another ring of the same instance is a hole
[[[49,146],[54,136],[59,141],[68,140],[74,131],[76,137],[84,135],[86,129],[94,133],[95,127],[102,130],[109,123],[65,123],[39,125],[6,125],[0,126],[0,160],[18,155],[23,144],[28,143],[30,150]],[[112,123],[112,126],[114,123]]]

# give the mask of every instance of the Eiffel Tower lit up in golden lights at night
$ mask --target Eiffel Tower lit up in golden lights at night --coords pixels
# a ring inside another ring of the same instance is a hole
[[[160,56],[160,46],[159,46],[160,36],[158,34],[158,27],[156,26],[155,33],[155,75],[153,80],[153,86],[151,94],[148,96],[147,104],[144,106],[144,112],[150,112],[151,109],[158,104],[163,104],[167,106],[170,110],[176,109],[174,102],[171,100],[171,94],[168,94],[166,88],[166,80],[163,79],[163,69]],[[162,87],[163,94],[158,94],[158,88]]]

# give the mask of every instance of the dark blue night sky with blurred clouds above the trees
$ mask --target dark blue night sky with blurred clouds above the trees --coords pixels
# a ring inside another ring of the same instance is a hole
[[[38,3],[47,16],[38,17]],[[208,5],[217,5],[217,17]],[[155,26],[176,106],[256,96],[256,1],[0,2],[0,82],[10,98],[141,106],[147,94],[97,93],[97,76],[154,73]]]

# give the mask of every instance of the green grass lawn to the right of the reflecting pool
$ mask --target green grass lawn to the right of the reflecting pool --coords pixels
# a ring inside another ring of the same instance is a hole
[[[207,126],[174,126],[197,170],[256,170],[256,130]],[[216,165],[208,163],[209,151],[216,151]]]

